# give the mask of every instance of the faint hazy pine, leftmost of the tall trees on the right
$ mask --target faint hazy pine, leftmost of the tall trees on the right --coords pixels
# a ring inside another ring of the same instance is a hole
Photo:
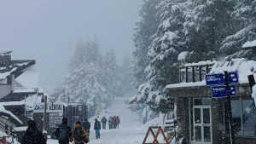
[[[142,9],[139,12],[142,20],[137,22],[136,33],[133,38],[136,49],[132,53],[133,83],[137,88],[140,84],[146,82],[147,73],[145,68],[149,64],[147,59],[148,47],[153,42],[154,34],[160,24],[160,16],[157,14],[159,3],[159,0],[143,0]]]

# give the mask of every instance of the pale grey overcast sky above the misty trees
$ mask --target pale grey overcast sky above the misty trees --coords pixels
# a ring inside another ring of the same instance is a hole
[[[96,37],[102,53],[131,55],[132,35],[143,0],[0,1],[0,52],[36,60],[39,86],[51,91],[67,75],[79,40]]]

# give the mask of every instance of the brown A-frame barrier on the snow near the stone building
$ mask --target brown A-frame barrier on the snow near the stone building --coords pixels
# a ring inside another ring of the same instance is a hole
[[[154,131],[153,131],[154,129],[157,130],[156,135],[154,134]],[[153,140],[151,143],[146,143],[146,141],[147,141],[147,139],[148,139],[148,134],[149,134],[149,132],[152,133],[152,135],[153,135],[153,137],[154,137],[154,140]],[[158,135],[160,135],[160,134],[163,135],[165,143],[160,143],[160,142],[157,140]],[[162,130],[162,128],[161,128],[160,126],[150,126],[150,127],[148,128],[147,134],[145,135],[143,144],[168,144],[168,139],[166,138],[166,135],[165,135],[165,133],[164,133],[164,130]]]

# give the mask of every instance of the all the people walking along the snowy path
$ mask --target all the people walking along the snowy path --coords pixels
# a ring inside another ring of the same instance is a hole
[[[109,130],[119,129],[120,118],[119,116],[110,116],[107,120],[105,116],[98,121],[95,119],[94,130],[96,130],[96,139],[101,138],[100,130],[106,130],[106,124],[108,121]],[[101,126],[102,123],[102,126]],[[67,125],[67,118],[62,118],[62,123],[55,130],[55,137],[59,141],[59,144],[68,144],[69,141],[75,144],[84,144],[90,141],[90,122],[85,119],[83,123],[77,121],[72,128]],[[34,120],[28,121],[28,128],[25,135],[22,137],[21,144],[46,144],[47,137],[38,130],[37,124]]]

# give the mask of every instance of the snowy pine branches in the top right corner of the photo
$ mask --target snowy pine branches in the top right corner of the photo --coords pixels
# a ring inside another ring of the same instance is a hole
[[[247,41],[256,40],[256,1],[241,0],[236,1],[235,10],[232,16],[238,21],[237,27],[240,28],[235,33],[226,37],[219,49],[226,56],[224,60],[233,58],[247,58],[256,60],[256,55],[252,49],[242,49],[241,46]],[[232,29],[231,27],[230,29]]]

